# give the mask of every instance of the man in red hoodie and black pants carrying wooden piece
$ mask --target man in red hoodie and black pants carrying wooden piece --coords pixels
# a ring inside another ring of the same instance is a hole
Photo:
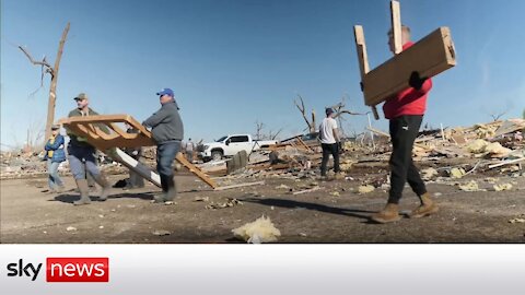
[[[402,50],[413,43],[410,40],[410,28],[401,26]],[[394,38],[392,31],[388,32],[388,46],[394,54]],[[419,133],[421,121],[427,108],[427,96],[432,88],[430,78],[420,76],[412,72],[409,76],[410,87],[393,95],[383,105],[385,118],[389,120],[389,132],[393,145],[390,156],[390,190],[386,206],[372,215],[372,221],[389,223],[400,220],[399,200],[402,197],[405,182],[419,197],[421,204],[410,212],[410,217],[422,217],[435,213],[438,205],[431,200],[427,187],[421,179],[418,168],[413,165],[412,148]]]

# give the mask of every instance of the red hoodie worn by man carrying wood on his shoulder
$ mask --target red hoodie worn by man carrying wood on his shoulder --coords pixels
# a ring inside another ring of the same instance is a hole
[[[402,50],[412,46],[409,42],[402,46]],[[421,90],[408,87],[389,97],[383,105],[385,118],[395,119],[402,115],[424,115],[427,109],[427,96],[432,88],[432,80],[424,81]]]

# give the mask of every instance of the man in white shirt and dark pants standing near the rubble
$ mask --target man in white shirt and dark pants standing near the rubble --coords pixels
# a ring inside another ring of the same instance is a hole
[[[325,110],[326,118],[319,126],[320,146],[323,148],[323,161],[320,162],[320,176],[326,176],[326,164],[331,154],[334,157],[334,172],[339,169],[339,133],[337,130],[337,121],[334,119],[334,109]]]

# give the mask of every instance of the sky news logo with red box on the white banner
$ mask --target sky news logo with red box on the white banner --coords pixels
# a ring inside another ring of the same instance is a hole
[[[7,266],[8,276],[38,279],[43,263],[25,263],[23,259]],[[46,259],[48,283],[107,283],[109,258],[107,257],[48,257]]]

